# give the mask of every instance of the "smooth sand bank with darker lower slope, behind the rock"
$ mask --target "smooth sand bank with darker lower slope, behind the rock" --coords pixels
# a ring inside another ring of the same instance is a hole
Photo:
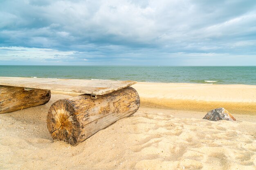
[[[205,112],[225,107],[231,113],[256,115],[256,85],[139,82],[132,87],[147,107]]]

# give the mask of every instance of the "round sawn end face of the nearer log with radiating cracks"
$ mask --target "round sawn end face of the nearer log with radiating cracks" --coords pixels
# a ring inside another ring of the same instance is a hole
[[[75,146],[80,135],[80,124],[72,105],[64,100],[52,104],[47,115],[47,128],[54,141],[62,140]]]

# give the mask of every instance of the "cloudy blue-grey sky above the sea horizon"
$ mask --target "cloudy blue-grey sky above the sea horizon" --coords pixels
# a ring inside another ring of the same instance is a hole
[[[0,0],[0,65],[256,65],[256,0]]]

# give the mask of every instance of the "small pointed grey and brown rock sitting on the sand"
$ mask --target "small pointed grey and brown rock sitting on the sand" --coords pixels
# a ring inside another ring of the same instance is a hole
[[[218,121],[218,120],[229,120],[233,121],[236,120],[226,109],[223,107],[213,109],[209,111],[203,119],[211,120],[211,121]]]

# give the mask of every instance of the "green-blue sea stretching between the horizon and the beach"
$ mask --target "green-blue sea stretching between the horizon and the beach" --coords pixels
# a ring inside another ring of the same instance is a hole
[[[0,76],[256,85],[256,66],[0,65]]]

